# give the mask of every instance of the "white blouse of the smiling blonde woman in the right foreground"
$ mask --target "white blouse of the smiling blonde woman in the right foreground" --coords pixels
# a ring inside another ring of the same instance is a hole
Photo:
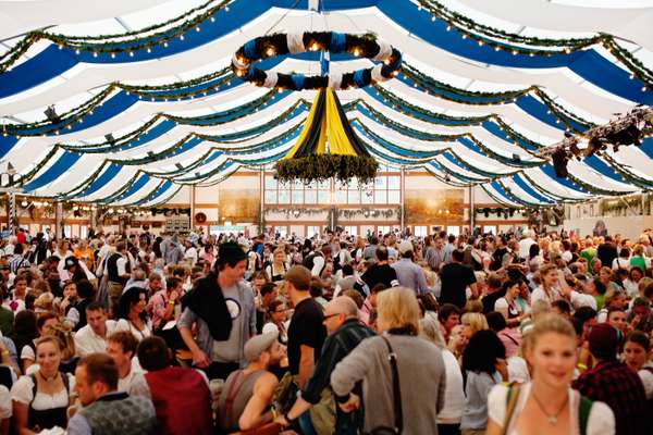
[[[531,383],[523,384],[521,386],[521,391],[519,393],[519,397],[517,399],[517,403],[515,406],[515,411],[513,412],[513,417],[508,422],[508,431],[505,433],[507,435],[528,435],[528,434],[519,434],[515,431],[515,423],[517,422],[518,415],[523,409],[526,401],[530,395]],[[497,384],[492,387],[490,395],[488,395],[488,418],[492,419],[492,421],[503,428],[504,420],[506,415],[506,405],[508,387],[502,384]],[[578,419],[578,402],[580,400],[580,394],[571,388],[569,388],[569,415],[572,415],[574,419]],[[572,420],[574,421],[574,420]],[[577,425],[574,425],[577,426]],[[588,417],[588,426],[587,426],[587,435],[612,435],[615,433],[615,414],[613,413],[609,407],[601,401],[594,401],[592,405],[592,409],[590,410],[590,415]],[[578,435],[576,432],[576,427],[572,435]]]

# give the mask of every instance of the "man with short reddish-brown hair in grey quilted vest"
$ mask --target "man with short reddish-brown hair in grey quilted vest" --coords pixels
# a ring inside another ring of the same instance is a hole
[[[84,408],[69,421],[69,435],[148,435],[157,423],[152,401],[118,391],[111,357],[91,353],[75,370],[75,391]]]

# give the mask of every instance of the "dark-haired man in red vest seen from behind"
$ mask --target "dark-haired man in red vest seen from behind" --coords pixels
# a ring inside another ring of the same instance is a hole
[[[213,423],[209,380],[199,370],[170,365],[171,357],[161,337],[147,337],[138,344],[138,362],[147,373],[134,383],[155,403],[155,433],[209,435]]]

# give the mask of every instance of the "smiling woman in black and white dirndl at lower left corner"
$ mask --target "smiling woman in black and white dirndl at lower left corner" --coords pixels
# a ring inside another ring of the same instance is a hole
[[[11,388],[14,427],[19,435],[30,435],[54,426],[66,427],[66,409],[75,378],[59,371],[62,344],[47,336],[36,341],[38,371],[23,376]]]

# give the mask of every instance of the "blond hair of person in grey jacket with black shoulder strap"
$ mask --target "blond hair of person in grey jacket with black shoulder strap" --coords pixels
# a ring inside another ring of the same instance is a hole
[[[415,291],[406,287],[392,287],[377,295],[378,324],[385,330],[406,327],[419,331],[419,304]]]

